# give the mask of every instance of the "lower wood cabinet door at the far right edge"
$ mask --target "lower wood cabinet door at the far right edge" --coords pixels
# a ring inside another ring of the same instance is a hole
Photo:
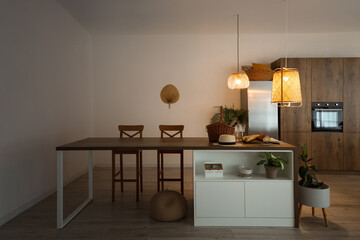
[[[360,170],[360,133],[344,133],[345,170]]]

